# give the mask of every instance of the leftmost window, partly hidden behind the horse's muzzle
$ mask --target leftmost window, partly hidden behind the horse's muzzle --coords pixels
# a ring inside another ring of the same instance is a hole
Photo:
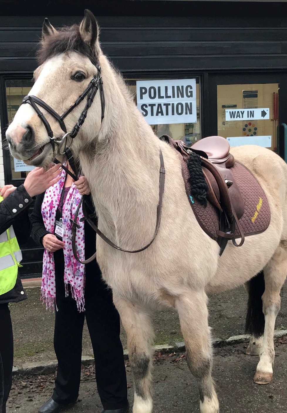
[[[7,113],[8,122],[10,123],[19,106],[22,103],[23,97],[28,95],[33,86],[33,81],[28,79],[11,79],[6,81],[6,96],[7,96]],[[18,161],[11,157],[12,179],[25,179],[33,166],[26,165],[23,161]]]

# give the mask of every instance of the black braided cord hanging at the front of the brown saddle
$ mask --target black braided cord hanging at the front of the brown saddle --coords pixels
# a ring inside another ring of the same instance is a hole
[[[207,206],[207,183],[202,172],[202,164],[200,156],[194,153],[190,154],[187,161],[187,168],[189,170],[188,182],[190,183],[190,195],[197,199],[197,201]]]

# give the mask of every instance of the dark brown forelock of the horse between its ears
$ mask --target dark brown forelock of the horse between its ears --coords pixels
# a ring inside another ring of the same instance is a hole
[[[65,52],[78,52],[88,57],[93,64],[97,62],[94,50],[85,43],[80,36],[79,25],[74,24],[70,27],[62,27],[57,33],[47,36],[41,41],[41,47],[37,52],[39,64],[43,64],[50,57]]]

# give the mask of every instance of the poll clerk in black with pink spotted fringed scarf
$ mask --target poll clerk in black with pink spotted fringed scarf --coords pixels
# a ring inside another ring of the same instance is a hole
[[[66,167],[70,169],[69,164]],[[32,237],[45,248],[42,297],[47,308],[55,303],[56,309],[57,378],[51,399],[39,413],[56,413],[62,407],[74,404],[78,398],[85,318],[95,356],[102,413],[129,411],[119,314],[111,290],[102,281],[97,262],[83,266],[76,261],[71,249],[70,219],[74,219],[81,195],[89,194],[85,177],[74,182],[63,170],[59,182],[37,197],[31,215]],[[81,260],[95,252],[96,240],[90,226],[79,221],[82,216],[80,209],[76,239]]]

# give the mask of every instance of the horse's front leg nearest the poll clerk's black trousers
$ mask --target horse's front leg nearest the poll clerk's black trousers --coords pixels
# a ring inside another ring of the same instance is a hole
[[[128,338],[128,355],[134,381],[133,413],[152,413],[151,368],[154,332],[149,314],[114,294],[114,304]]]

